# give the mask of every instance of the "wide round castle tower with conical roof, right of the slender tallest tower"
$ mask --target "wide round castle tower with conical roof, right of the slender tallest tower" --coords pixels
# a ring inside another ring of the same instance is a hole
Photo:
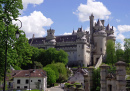
[[[105,32],[105,27],[103,26],[102,22],[98,20],[96,26],[94,27],[95,32],[94,36],[94,64],[98,62],[98,59],[104,57],[106,54],[106,37],[107,33]],[[103,58],[102,58],[103,59]]]

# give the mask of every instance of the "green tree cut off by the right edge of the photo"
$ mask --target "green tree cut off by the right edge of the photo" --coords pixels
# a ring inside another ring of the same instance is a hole
[[[124,59],[126,63],[130,63],[130,39],[124,39]]]

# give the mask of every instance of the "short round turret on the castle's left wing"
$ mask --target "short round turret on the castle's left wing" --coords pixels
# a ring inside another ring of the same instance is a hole
[[[48,48],[54,48],[56,45],[56,40],[55,40],[55,36],[54,36],[55,30],[54,29],[49,29],[47,30],[47,36],[46,36],[46,42],[45,45]]]

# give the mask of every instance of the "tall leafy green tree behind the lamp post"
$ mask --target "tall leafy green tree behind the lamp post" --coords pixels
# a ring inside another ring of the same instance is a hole
[[[5,50],[7,44],[7,69],[10,65],[19,69],[21,64],[30,62],[31,49],[23,31],[19,30],[20,37],[16,39],[18,29],[12,20],[20,15],[23,9],[22,0],[0,0],[0,78],[3,77],[5,64]]]

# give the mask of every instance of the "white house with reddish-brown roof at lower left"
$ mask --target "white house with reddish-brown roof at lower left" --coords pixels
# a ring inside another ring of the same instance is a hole
[[[11,89],[43,89],[47,88],[47,75],[42,69],[11,70],[6,78]]]

